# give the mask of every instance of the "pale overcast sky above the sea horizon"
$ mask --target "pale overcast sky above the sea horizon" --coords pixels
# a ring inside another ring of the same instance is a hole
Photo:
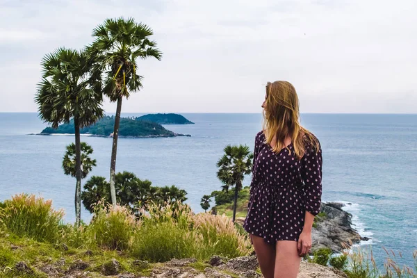
[[[301,113],[417,113],[416,14],[416,0],[0,0],[0,111],[36,112],[45,54],[134,17],[163,58],[139,62],[123,112],[259,113],[286,80]]]

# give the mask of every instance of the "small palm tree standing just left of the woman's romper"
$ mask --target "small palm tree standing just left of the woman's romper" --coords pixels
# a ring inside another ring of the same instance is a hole
[[[233,218],[236,219],[236,204],[238,202],[238,192],[242,189],[242,182],[246,174],[252,170],[253,154],[246,145],[231,146],[224,148],[224,155],[217,163],[219,168],[217,177],[222,181],[222,189],[227,192],[229,187],[235,187]]]

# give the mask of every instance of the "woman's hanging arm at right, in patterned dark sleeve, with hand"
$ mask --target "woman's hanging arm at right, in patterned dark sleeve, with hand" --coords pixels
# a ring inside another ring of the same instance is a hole
[[[322,195],[322,152],[312,146],[306,149],[302,158],[301,176],[304,181],[304,205],[306,208],[304,227],[298,239],[298,253],[300,256],[308,254],[311,249],[311,229],[314,216],[320,212]]]

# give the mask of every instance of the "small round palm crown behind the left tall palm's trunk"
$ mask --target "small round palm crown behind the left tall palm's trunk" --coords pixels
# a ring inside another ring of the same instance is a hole
[[[81,142],[81,178],[85,179],[92,167],[96,165],[96,160],[90,158],[92,154],[92,147],[86,142]],[[67,145],[67,152],[63,158],[63,169],[65,174],[71,177],[76,177],[76,158],[75,158],[75,144]]]

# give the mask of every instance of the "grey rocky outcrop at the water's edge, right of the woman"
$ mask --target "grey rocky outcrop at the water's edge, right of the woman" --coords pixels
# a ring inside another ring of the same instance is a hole
[[[358,232],[352,228],[352,214],[343,211],[344,204],[322,203],[320,212],[325,214],[316,219],[316,227],[313,228],[313,247],[311,252],[323,247],[330,248],[333,252],[342,252],[353,243],[359,243],[361,238]]]

